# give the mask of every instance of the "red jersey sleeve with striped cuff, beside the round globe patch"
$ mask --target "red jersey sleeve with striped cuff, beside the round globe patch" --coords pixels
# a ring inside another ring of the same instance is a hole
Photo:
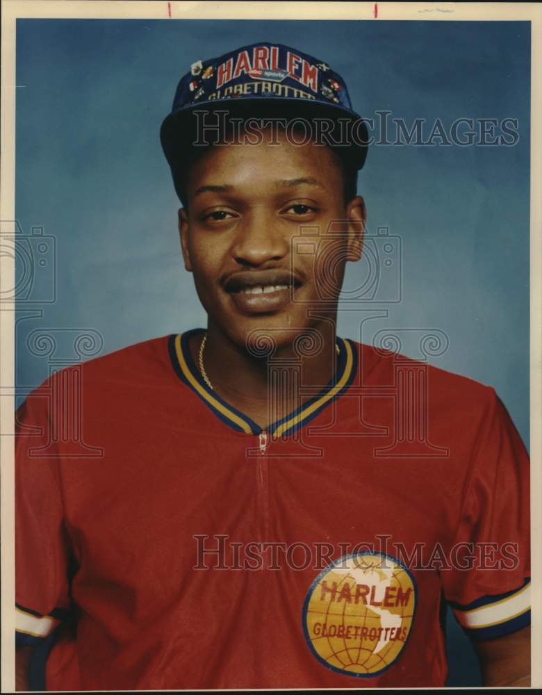
[[[479,427],[463,507],[443,571],[465,632],[493,639],[530,623],[529,457],[493,389]]]

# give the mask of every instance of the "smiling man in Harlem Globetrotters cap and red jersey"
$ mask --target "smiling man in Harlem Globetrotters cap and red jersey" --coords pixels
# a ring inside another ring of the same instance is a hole
[[[438,687],[446,603],[485,684],[528,685],[507,411],[336,335],[366,220],[343,79],[267,42],[199,60],[161,137],[208,325],[61,370],[18,412],[31,685]]]

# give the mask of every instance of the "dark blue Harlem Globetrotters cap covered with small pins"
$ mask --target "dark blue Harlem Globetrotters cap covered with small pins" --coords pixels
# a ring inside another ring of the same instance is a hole
[[[160,131],[173,173],[197,141],[197,112],[201,117],[217,111],[326,121],[322,141],[340,147],[356,169],[365,163],[367,127],[352,109],[343,78],[323,60],[283,44],[262,41],[190,65]]]

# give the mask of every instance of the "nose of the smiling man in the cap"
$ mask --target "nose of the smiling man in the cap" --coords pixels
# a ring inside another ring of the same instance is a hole
[[[279,221],[265,211],[251,211],[238,224],[231,254],[239,265],[263,265],[279,261],[288,254],[290,245]]]

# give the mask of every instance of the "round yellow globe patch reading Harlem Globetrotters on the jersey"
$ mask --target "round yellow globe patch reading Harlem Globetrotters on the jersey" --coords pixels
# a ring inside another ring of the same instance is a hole
[[[416,582],[390,555],[345,555],[314,580],[303,606],[305,639],[333,671],[370,678],[400,656],[416,611]]]

